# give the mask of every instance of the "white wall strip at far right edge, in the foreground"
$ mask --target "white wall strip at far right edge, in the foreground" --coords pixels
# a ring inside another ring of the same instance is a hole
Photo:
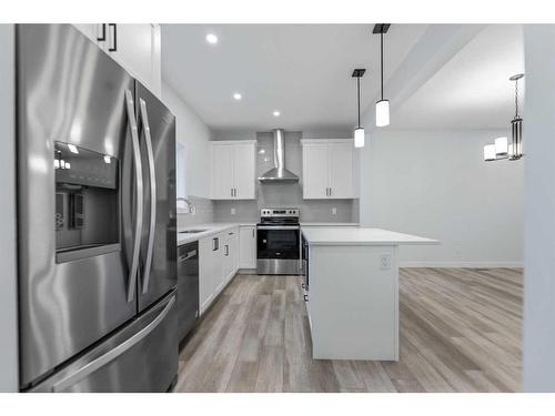
[[[555,26],[525,26],[524,390],[555,392]]]

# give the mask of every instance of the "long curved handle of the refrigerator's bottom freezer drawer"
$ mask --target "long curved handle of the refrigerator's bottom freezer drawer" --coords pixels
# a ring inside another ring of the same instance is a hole
[[[62,378],[60,382],[56,383],[52,386],[52,393],[62,392],[71,385],[79,383],[87,376],[94,373],[97,369],[105,366],[113,359],[118,358],[120,355],[139,344],[142,339],[144,339],[152,331],[157,328],[157,326],[165,318],[165,316],[170,313],[173,304],[175,303],[175,296],[173,296],[168,305],[164,306],[162,312],[144,328],[139,331],[137,334],[125,339],[123,343],[119,344],[117,347],[110,349],[108,353],[101,355],[100,357],[93,359],[87,365],[79,368],[77,372],[68,375],[65,378]]]

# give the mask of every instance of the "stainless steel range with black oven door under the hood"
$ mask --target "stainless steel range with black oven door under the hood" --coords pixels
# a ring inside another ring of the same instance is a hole
[[[297,209],[262,209],[256,224],[256,273],[300,274],[301,225]]]

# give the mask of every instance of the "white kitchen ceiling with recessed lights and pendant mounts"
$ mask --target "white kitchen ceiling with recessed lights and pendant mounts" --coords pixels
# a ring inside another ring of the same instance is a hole
[[[351,129],[354,68],[363,108],[379,93],[379,35],[373,24],[164,24],[162,72],[213,130]],[[425,32],[393,24],[385,35],[385,81]],[[206,33],[219,42],[208,44]],[[243,95],[235,101],[232,94]],[[272,112],[281,111],[280,118]]]

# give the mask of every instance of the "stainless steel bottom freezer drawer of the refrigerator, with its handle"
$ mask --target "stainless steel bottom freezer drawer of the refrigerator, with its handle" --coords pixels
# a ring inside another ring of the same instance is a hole
[[[29,392],[167,392],[178,374],[176,294]]]

